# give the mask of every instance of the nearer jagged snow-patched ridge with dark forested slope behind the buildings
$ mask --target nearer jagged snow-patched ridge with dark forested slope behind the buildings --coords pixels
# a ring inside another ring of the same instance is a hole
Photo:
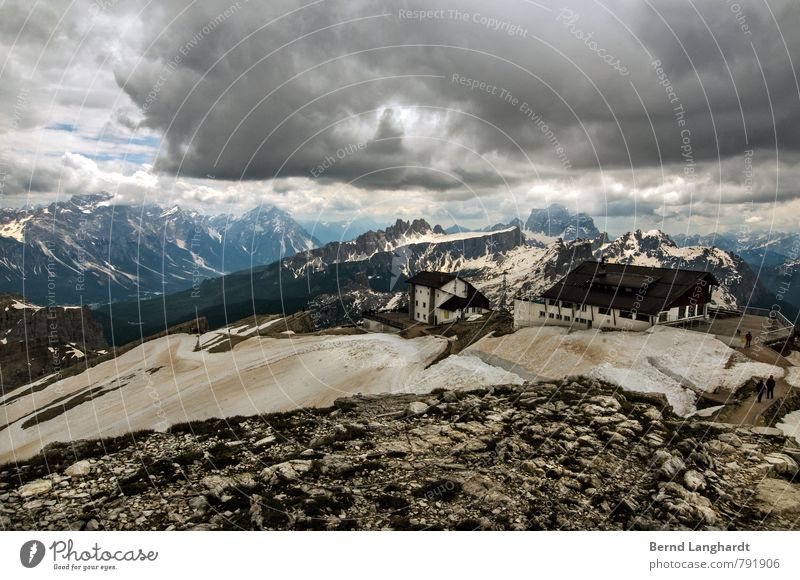
[[[203,281],[198,288],[97,311],[115,343],[165,326],[207,317],[211,327],[261,313],[308,309],[319,326],[357,323],[367,309],[402,309],[405,280],[420,270],[457,272],[495,305],[517,293],[535,293],[583,260],[684,267],[712,272],[722,286],[721,307],[755,305],[768,293],[750,266],[719,248],[679,247],[658,230],[629,232],[608,241],[529,240],[519,227],[448,234],[423,219],[397,220],[348,242],[332,242],[280,262]]]

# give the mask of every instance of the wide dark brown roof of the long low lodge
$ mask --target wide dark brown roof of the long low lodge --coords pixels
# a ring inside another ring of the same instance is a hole
[[[544,291],[542,297],[658,314],[703,283],[719,285],[710,272],[587,260]]]

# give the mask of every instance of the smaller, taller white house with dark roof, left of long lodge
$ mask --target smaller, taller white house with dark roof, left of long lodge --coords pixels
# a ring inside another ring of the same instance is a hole
[[[489,299],[472,284],[447,272],[418,272],[407,281],[412,320],[444,324],[491,310]]]

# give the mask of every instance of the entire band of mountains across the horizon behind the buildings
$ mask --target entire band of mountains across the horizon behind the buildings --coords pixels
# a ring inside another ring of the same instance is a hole
[[[539,291],[601,255],[711,271],[722,281],[716,298],[727,306],[768,307],[781,276],[796,276],[797,236],[683,236],[676,243],[659,230],[636,230],[609,240],[591,216],[557,204],[488,231],[398,219],[347,239],[368,224],[310,225],[322,239],[338,239],[323,244],[274,207],[209,216],[116,205],[99,194],[0,210],[0,291],[38,304],[93,304],[106,339],[122,344],[197,316],[213,327],[308,308],[323,326],[358,322],[364,309],[403,308],[404,282],[419,270],[459,272],[496,303]],[[800,300],[784,297],[791,314]]]

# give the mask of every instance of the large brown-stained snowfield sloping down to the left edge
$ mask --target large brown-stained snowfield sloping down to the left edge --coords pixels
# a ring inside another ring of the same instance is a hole
[[[469,355],[426,369],[447,346],[437,337],[254,336],[227,352],[208,352],[210,345],[224,342],[220,334],[201,336],[203,349],[197,351],[196,336],[163,337],[38,392],[23,387],[7,393],[0,399],[0,464],[35,455],[53,441],[322,407],[357,393],[522,382]]]

